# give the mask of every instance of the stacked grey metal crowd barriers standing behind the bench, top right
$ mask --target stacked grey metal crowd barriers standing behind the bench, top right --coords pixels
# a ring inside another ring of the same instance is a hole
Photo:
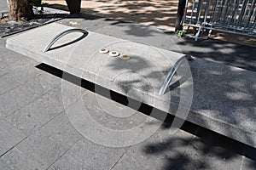
[[[224,31],[256,37],[256,0],[187,0],[183,25],[203,30]]]

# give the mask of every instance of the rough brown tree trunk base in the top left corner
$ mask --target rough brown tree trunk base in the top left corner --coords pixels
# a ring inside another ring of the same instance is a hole
[[[7,0],[9,8],[9,20],[25,20],[32,19],[34,17],[32,11],[32,5],[30,0]]]

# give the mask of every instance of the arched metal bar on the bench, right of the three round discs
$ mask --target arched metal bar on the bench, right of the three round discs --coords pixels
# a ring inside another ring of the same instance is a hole
[[[177,71],[178,67],[185,61],[186,59],[190,60],[192,57],[190,55],[184,55],[180,59],[176,61],[176,63],[173,65],[173,68],[171,71],[169,71],[163,85],[160,88],[159,95],[163,95],[166,92],[166,89],[168,88],[170,82],[172,81],[172,77],[174,76],[175,72]]]

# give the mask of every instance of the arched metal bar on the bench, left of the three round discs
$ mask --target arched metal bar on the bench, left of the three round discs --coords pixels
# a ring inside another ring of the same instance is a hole
[[[66,31],[62,31],[60,34],[58,34],[57,36],[55,36],[54,38],[52,38],[49,43],[45,46],[44,50],[43,50],[43,53],[47,52],[49,50],[49,48],[58,40],[60,39],[61,37],[69,34],[69,33],[72,33],[72,32],[82,32],[84,34],[88,34],[88,31],[85,31],[83,29],[79,29],[79,28],[72,28],[72,29],[69,29],[69,30],[66,30]]]

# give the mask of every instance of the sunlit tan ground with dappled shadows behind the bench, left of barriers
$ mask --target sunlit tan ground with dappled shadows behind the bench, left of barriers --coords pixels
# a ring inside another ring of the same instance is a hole
[[[50,1],[50,7],[68,9],[67,6]],[[81,12],[115,20],[124,20],[147,26],[174,26],[177,14],[177,1],[82,1]],[[65,3],[64,3],[65,4]]]

